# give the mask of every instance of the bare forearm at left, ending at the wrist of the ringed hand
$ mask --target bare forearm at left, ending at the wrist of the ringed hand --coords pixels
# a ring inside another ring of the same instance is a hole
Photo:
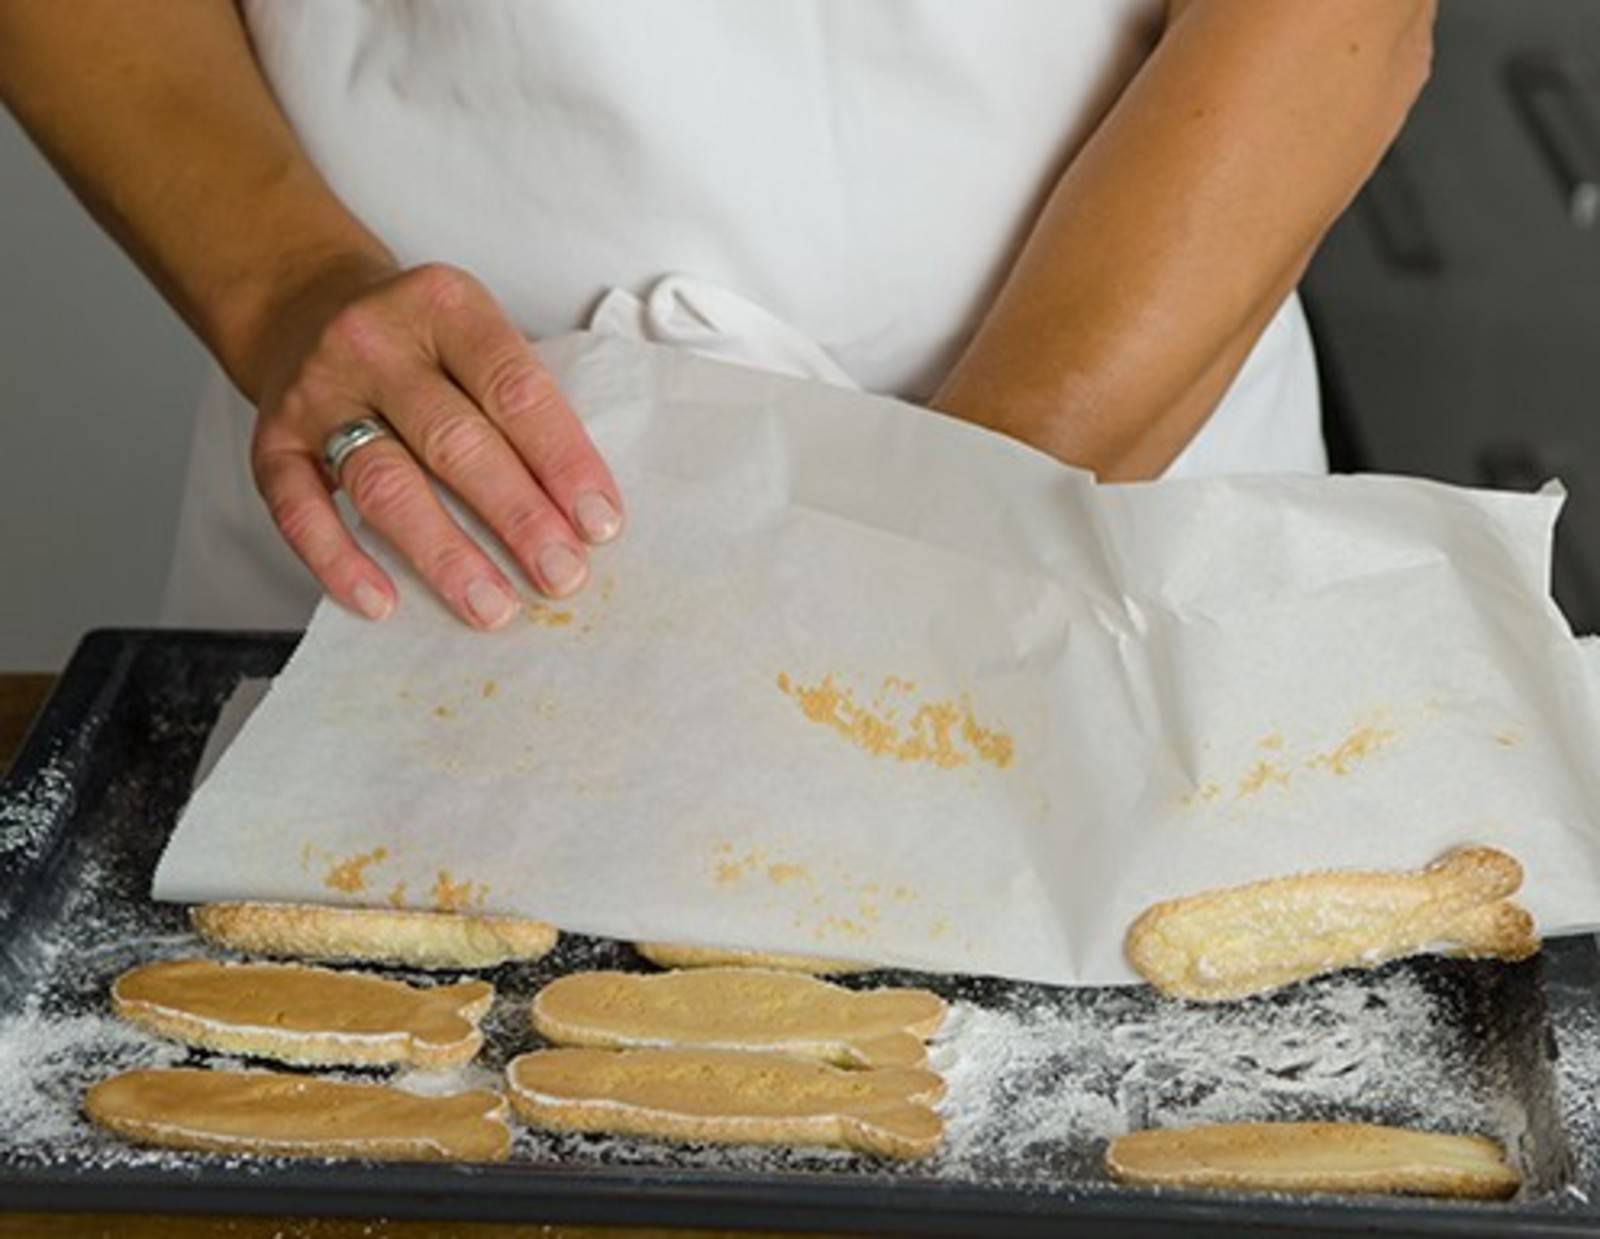
[[[306,158],[229,0],[0,0],[0,96],[250,395],[285,304],[389,266]]]

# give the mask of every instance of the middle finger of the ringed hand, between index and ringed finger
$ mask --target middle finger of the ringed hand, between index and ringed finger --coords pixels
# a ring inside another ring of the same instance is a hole
[[[571,594],[587,554],[506,437],[437,368],[386,383],[379,399],[421,464],[466,499],[546,594]]]

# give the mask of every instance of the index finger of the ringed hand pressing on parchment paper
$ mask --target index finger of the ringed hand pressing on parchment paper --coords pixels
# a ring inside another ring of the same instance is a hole
[[[568,525],[590,543],[622,531],[622,499],[578,415],[477,280],[426,267],[438,363],[510,442]],[[501,530],[498,530],[501,531]]]

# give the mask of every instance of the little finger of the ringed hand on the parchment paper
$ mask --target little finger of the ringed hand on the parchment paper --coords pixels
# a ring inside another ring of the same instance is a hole
[[[312,456],[294,447],[264,450],[254,467],[274,523],[322,587],[368,620],[386,620],[395,608],[394,583],[344,527]]]

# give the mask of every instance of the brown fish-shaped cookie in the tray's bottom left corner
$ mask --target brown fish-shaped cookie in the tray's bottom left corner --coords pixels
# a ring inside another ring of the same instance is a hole
[[[382,1084],[341,1084],[270,1071],[130,1071],[83,1098],[88,1116],[125,1140],[272,1157],[502,1162],[506,1098],[488,1089],[416,1097]]]

